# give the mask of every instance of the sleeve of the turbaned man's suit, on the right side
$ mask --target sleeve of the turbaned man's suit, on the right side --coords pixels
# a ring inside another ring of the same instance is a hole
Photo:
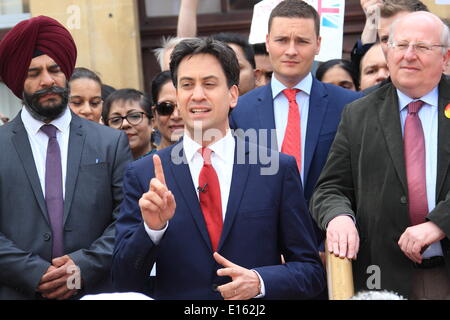
[[[131,161],[131,152],[128,138],[121,133],[117,139],[115,158],[112,163],[111,192],[113,194],[113,207],[111,213],[112,223],[103,234],[95,240],[89,248],[77,250],[69,254],[71,259],[81,270],[83,287],[89,290],[99,280],[104,279],[105,274],[111,270],[111,257],[114,249],[115,221],[123,198],[122,181],[127,164]]]

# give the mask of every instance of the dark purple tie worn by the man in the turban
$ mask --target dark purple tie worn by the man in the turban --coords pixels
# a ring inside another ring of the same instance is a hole
[[[46,124],[41,127],[41,130],[48,136],[45,162],[45,203],[53,235],[52,257],[57,258],[64,254],[61,151],[58,140],[56,140],[56,127]]]

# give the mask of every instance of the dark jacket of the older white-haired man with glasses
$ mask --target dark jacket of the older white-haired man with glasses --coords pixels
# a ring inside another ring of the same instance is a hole
[[[441,241],[450,270],[450,81],[439,83],[436,207],[427,219],[447,235]],[[392,83],[351,104],[343,112],[329,158],[310,209],[325,230],[339,214],[355,217],[360,235],[353,264],[356,290],[368,290],[371,265],[378,266],[381,289],[410,293],[413,262],[397,242],[410,226],[408,189],[398,97]]]

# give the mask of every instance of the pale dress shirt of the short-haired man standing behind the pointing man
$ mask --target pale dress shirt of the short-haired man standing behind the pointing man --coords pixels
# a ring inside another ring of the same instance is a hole
[[[300,170],[300,176],[302,183],[305,181],[304,177],[304,163],[305,163],[305,141],[306,141],[306,129],[308,125],[308,113],[309,113],[309,98],[311,95],[313,78],[311,73],[308,73],[299,83],[297,83],[292,89],[300,89],[297,93],[296,99],[300,112],[300,131],[301,131],[301,160],[302,168]],[[288,116],[289,116],[289,101],[286,96],[282,93],[284,89],[288,89],[284,84],[282,84],[273,74],[272,81],[270,82],[272,87],[272,97],[273,97],[273,110],[275,116],[275,128],[277,131],[277,143],[278,151],[281,152],[281,147],[283,145],[284,134],[286,132]]]

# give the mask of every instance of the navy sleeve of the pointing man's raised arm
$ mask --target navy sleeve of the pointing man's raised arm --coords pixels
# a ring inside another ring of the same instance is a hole
[[[123,190],[124,200],[116,224],[113,285],[117,291],[145,292],[146,281],[156,260],[157,246],[145,230],[139,208],[139,199],[148,190],[139,183],[133,166],[127,169]]]

